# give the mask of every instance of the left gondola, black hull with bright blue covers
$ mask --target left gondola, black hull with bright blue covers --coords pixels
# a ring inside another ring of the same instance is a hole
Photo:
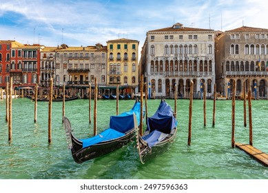
[[[136,101],[133,108],[118,116],[110,116],[110,127],[96,136],[87,139],[77,139],[71,128],[71,123],[65,116],[65,126],[68,148],[76,163],[83,163],[104,154],[108,154],[135,138],[134,121],[140,122],[141,103]],[[135,117],[135,120],[134,120]]]

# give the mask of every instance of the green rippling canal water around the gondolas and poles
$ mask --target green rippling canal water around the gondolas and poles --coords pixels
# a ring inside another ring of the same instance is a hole
[[[167,99],[174,107],[174,101]],[[148,101],[148,116],[159,99]],[[119,101],[119,113],[134,101]],[[92,108],[94,101],[92,101]],[[130,143],[120,150],[83,164],[74,163],[67,149],[62,123],[62,103],[52,104],[52,143],[48,143],[48,102],[39,102],[34,123],[34,102],[12,100],[12,143],[8,143],[6,102],[0,100],[0,179],[268,179],[268,168],[238,148],[231,148],[231,101],[216,101],[216,125],[212,127],[213,101],[207,100],[207,126],[203,101],[194,100],[192,143],[187,145],[189,100],[178,99],[178,133],[172,148],[142,165]],[[98,132],[107,128],[116,114],[116,101],[98,101]],[[77,138],[92,136],[88,101],[65,103],[67,116]],[[268,153],[268,101],[252,101],[254,147]],[[248,116],[247,116],[248,118]],[[92,109],[93,123],[93,109]],[[247,121],[247,125],[249,125]],[[243,123],[243,101],[236,101],[236,141],[249,143]]]

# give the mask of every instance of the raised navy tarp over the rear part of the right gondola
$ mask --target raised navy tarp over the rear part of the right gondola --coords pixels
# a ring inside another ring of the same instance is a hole
[[[152,132],[158,130],[169,134],[176,127],[176,119],[173,116],[172,108],[162,100],[153,116],[147,119],[147,130]]]

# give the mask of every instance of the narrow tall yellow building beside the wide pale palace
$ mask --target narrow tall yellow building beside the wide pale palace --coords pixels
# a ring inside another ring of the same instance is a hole
[[[114,94],[119,85],[121,94],[138,92],[138,43],[132,39],[107,41],[107,85]],[[113,89],[114,88],[114,89]]]

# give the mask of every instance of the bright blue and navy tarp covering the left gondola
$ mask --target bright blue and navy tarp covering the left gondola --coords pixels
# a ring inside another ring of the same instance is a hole
[[[90,137],[88,139],[81,139],[83,148],[102,141],[109,141],[125,135],[125,132],[134,128],[133,113],[136,114],[138,124],[140,123],[141,103],[136,101],[133,108],[128,112],[123,112],[118,116],[110,117],[110,128],[107,128],[100,134]]]

